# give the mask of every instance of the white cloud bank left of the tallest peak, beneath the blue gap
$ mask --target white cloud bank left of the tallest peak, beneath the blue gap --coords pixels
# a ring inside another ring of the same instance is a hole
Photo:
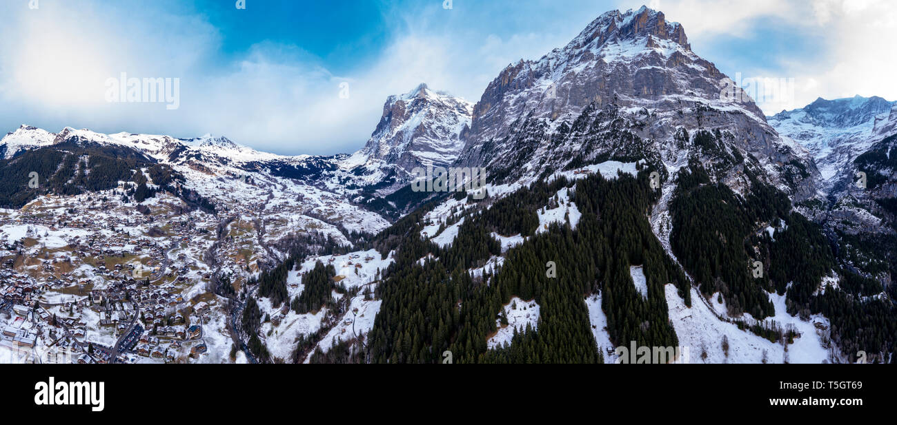
[[[130,9],[86,1],[48,0],[39,10],[0,5],[8,17],[0,27],[4,125],[178,137],[210,132],[286,154],[351,152],[370,137],[388,95],[426,82],[476,101],[505,65],[538,57],[572,37],[565,28],[548,36],[491,35],[483,42],[479,32],[433,31],[427,25],[432,16],[396,11],[403,15],[379,58],[336,74],[308,52],[271,42],[222,64],[222,36],[205,16],[151,7],[134,19]],[[105,81],[120,72],[178,78],[178,109],[106,102]],[[343,82],[348,98],[339,96]]]

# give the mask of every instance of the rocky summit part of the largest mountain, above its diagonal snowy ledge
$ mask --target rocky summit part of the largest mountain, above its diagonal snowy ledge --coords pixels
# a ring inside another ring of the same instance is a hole
[[[666,21],[664,13],[648,7],[611,11],[566,46],[537,61],[509,64],[483,92],[471,131],[462,137],[468,143],[501,138],[509,123],[530,112],[554,121],[591,104],[637,106],[659,99],[675,108],[684,98],[718,102],[725,78],[692,52],[682,25]],[[728,103],[764,120],[749,98]]]

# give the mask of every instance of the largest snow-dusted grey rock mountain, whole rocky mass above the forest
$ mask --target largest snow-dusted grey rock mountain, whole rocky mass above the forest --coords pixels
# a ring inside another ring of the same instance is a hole
[[[503,70],[461,134],[460,163],[510,182],[601,157],[645,157],[674,173],[697,156],[736,191],[750,186],[750,170],[798,199],[813,196],[806,149],[740,95],[664,13],[612,11],[567,46]]]

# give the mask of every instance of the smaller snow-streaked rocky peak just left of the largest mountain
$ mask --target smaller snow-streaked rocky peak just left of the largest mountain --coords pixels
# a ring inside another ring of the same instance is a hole
[[[364,148],[346,158],[341,167],[355,169],[367,183],[389,179],[383,192],[406,183],[416,166],[448,166],[463,148],[458,140],[470,126],[474,104],[422,83],[411,91],[390,96],[383,115]]]

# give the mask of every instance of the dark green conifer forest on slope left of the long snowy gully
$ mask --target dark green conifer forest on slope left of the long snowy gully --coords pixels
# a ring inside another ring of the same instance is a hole
[[[455,242],[444,249],[420,237],[419,217],[397,223],[404,231],[396,225],[380,235],[404,239],[378,288],[383,304],[369,336],[370,360],[440,362],[448,350],[456,362],[602,362],[585,304],[598,292],[614,343],[676,345],[664,285],[674,284],[690,302],[689,284],[651,233],[645,213],[658,195],[649,189],[648,174],[534,183],[482,214],[467,215]],[[536,210],[563,187],[575,193],[579,224],[555,224],[535,234]],[[507,252],[494,276],[472,276],[469,268],[501,253],[492,232],[527,240]],[[418,264],[428,254],[440,260]],[[546,274],[549,261],[556,266],[554,277]],[[631,281],[629,268],[636,265],[645,267],[647,300]],[[516,335],[509,346],[487,350],[502,306],[513,296],[539,303],[538,326]]]

